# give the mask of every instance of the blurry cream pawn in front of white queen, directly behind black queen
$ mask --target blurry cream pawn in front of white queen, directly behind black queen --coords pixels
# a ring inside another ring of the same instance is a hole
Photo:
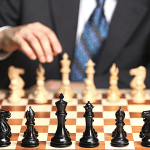
[[[86,92],[83,96],[83,102],[87,103],[88,101],[90,101],[91,103],[95,103],[96,98],[92,91],[93,82],[90,79],[86,79],[85,84],[86,84],[86,89],[85,89]]]

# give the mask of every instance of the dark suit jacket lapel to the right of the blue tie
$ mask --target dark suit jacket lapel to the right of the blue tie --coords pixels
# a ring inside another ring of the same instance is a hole
[[[110,68],[115,58],[132,37],[148,11],[146,2],[148,1],[118,0],[110,24],[108,40],[97,65],[98,74]]]

